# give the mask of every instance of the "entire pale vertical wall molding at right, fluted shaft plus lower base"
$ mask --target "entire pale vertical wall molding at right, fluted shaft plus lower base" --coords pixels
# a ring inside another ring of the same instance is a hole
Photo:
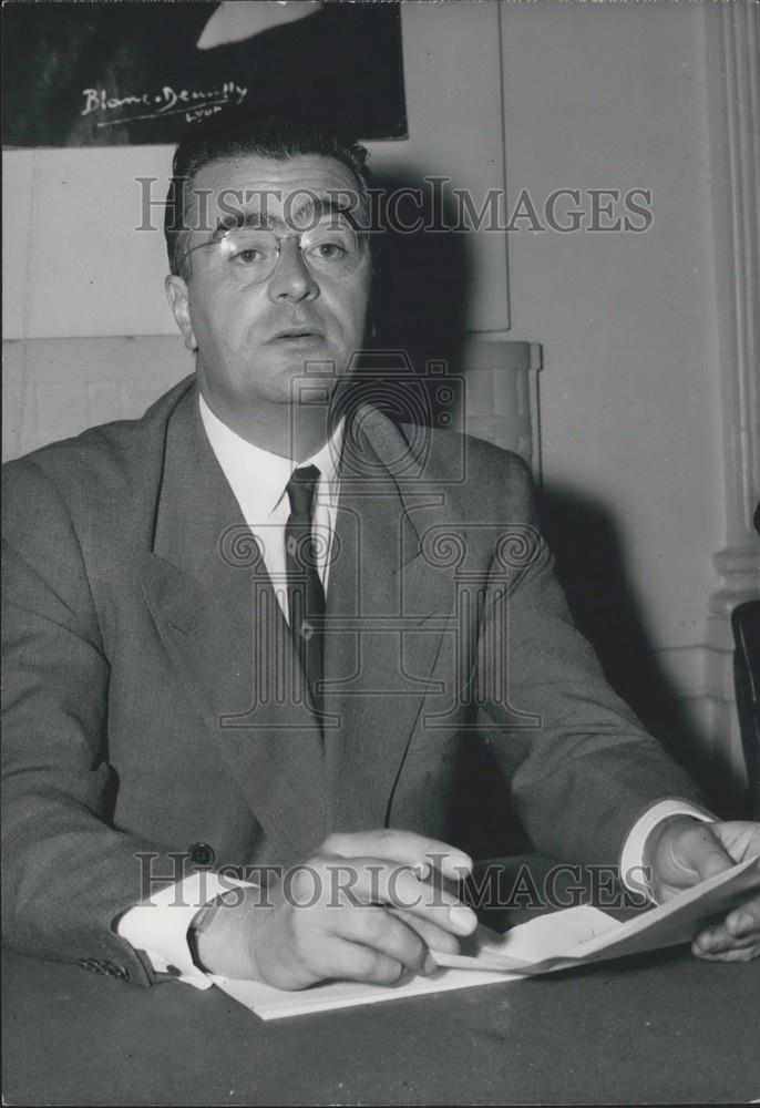
[[[716,360],[722,414],[723,545],[712,557],[696,700],[716,760],[744,779],[736,714],[731,612],[760,596],[760,540],[752,515],[760,500],[760,6],[705,4]]]

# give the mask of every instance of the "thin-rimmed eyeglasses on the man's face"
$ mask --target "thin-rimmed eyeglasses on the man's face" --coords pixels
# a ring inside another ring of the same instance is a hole
[[[195,250],[216,248],[223,271],[238,285],[258,285],[274,274],[283,243],[292,238],[307,269],[320,278],[342,278],[356,273],[362,248],[352,227],[325,224],[302,234],[278,237],[274,230],[235,227],[218,238],[192,246],[181,260]]]

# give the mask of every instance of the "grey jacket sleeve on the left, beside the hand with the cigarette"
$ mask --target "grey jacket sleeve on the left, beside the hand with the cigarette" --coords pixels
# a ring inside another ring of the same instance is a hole
[[[6,938],[148,985],[115,921],[150,891],[140,855],[162,874],[172,859],[109,823],[110,667],[71,513],[33,461],[7,465],[3,485]]]

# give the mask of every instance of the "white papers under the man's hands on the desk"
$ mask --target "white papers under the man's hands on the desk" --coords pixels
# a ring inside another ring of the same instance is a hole
[[[530,974],[689,942],[707,920],[730,911],[754,889],[760,890],[760,865],[750,859],[627,923],[618,923],[598,909],[583,905],[537,916],[505,935],[479,927],[468,943],[476,948],[475,956],[433,952],[441,968],[428,977],[407,975],[396,985],[329,982],[289,992],[255,981],[220,976],[212,979],[261,1019],[524,981]]]

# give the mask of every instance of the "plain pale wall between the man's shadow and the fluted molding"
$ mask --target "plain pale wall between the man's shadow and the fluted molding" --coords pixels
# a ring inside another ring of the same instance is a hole
[[[503,82],[513,198],[523,188],[537,204],[559,187],[653,192],[643,234],[511,235],[513,334],[543,345],[547,486],[606,519],[618,544],[654,661],[647,668],[631,646],[618,667],[646,670],[639,700],[645,680],[669,684],[692,709],[691,741],[732,759],[738,776],[736,726],[713,727],[706,654],[712,557],[727,526],[716,294],[731,277],[712,237],[715,7],[504,4]],[[565,534],[571,556],[595,566],[592,536],[604,531]],[[756,592],[757,565],[756,546]],[[602,616],[614,650],[624,615],[607,606]],[[726,671],[726,626],[715,648]],[[730,698],[730,686],[715,695]]]

